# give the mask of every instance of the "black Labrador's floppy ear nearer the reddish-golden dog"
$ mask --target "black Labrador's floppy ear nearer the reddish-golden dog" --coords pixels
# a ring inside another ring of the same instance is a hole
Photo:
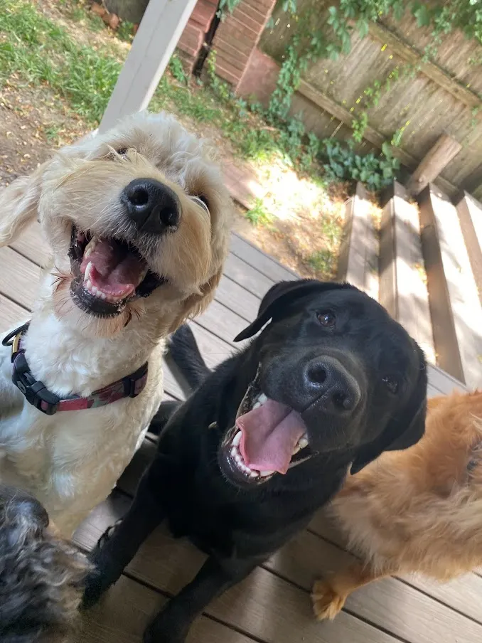
[[[408,449],[423,437],[427,415],[427,365],[422,349],[417,344],[415,346],[417,346],[420,370],[412,396],[405,409],[402,409],[396,418],[390,420],[382,434],[370,444],[361,447],[351,465],[351,474],[361,471],[383,451]]]

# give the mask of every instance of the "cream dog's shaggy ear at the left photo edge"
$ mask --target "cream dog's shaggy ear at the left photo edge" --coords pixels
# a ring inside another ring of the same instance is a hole
[[[21,176],[0,192],[0,246],[11,243],[36,219],[45,166],[30,176]]]

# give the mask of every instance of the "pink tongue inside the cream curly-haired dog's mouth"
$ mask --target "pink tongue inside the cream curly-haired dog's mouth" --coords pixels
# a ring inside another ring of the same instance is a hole
[[[114,296],[127,296],[134,291],[146,267],[143,260],[113,239],[97,241],[90,256],[82,260],[81,272],[85,272],[89,262],[93,266],[90,271],[92,284]]]

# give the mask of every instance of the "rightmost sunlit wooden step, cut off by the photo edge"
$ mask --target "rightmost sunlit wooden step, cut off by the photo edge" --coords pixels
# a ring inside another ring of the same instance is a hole
[[[478,288],[478,298],[482,303],[482,203],[464,191],[456,198],[456,208]]]

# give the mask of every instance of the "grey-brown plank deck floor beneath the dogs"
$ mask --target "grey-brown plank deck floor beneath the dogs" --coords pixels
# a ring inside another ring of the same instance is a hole
[[[11,248],[0,250],[1,327],[29,314],[36,296],[39,264],[45,258],[38,225]],[[259,300],[276,281],[294,279],[289,270],[242,238],[232,237],[231,253],[215,302],[193,331],[214,366],[233,349],[232,338],[255,317]],[[461,388],[430,368],[430,394]],[[183,393],[168,368],[166,396]],[[149,462],[149,437],[119,481],[118,488],[77,530],[75,542],[91,548],[102,531],[126,511]],[[190,643],[473,643],[482,640],[481,575],[472,573],[446,585],[422,578],[393,578],[369,585],[350,597],[334,622],[311,615],[312,581],[350,556],[323,514],[306,531],[255,570],[244,583],[213,602],[191,631]],[[183,541],[156,531],[126,573],[95,610],[82,619],[77,643],[138,643],[151,617],[168,597],[195,575],[203,555]]]

